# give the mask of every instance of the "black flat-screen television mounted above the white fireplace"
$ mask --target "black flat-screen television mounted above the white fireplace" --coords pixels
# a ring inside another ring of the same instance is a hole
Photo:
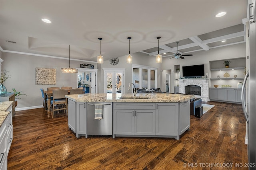
[[[182,66],[183,77],[202,77],[204,76],[204,64],[193,66]]]

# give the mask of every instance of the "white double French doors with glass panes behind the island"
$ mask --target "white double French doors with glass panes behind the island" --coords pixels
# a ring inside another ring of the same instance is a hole
[[[104,93],[124,93],[124,70],[104,69]]]

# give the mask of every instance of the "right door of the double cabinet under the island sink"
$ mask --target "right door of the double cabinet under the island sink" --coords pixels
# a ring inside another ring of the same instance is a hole
[[[134,111],[134,135],[156,135],[156,111]]]

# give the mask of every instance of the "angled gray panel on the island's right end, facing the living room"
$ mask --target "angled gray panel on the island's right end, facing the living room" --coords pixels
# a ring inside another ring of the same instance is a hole
[[[179,135],[190,127],[190,102],[179,103]]]

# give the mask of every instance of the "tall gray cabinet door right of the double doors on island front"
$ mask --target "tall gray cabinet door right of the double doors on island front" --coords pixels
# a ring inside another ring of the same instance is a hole
[[[156,135],[178,135],[178,103],[156,104]]]

